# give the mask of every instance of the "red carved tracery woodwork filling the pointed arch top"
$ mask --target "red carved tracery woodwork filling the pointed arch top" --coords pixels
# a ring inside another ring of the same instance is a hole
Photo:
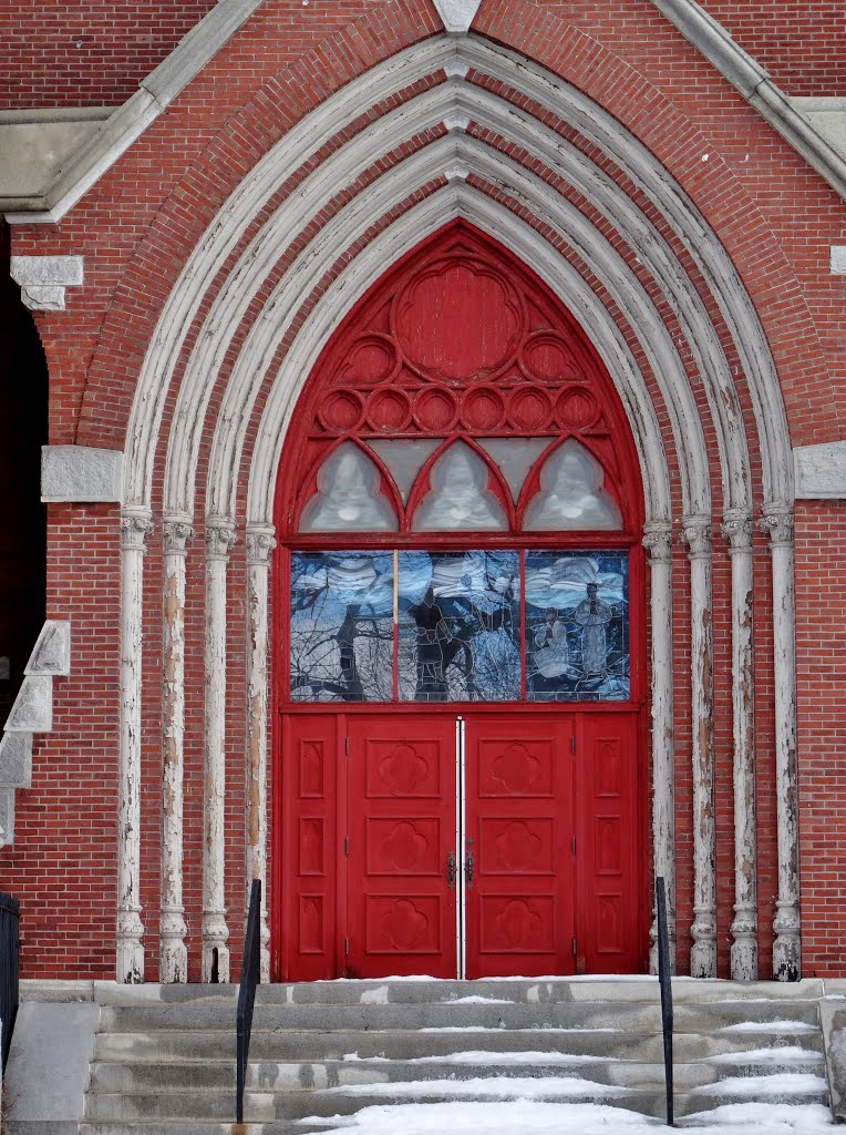
[[[569,437],[602,465],[625,531],[638,530],[636,453],[598,353],[524,264],[456,221],[386,274],[321,354],[298,400],[280,463],[277,529],[282,536],[297,532],[318,469],[335,446],[353,440],[380,469],[400,536],[413,539],[412,514],[428,491],[435,457],[405,507],[399,486],[370,443],[462,438],[473,445],[473,438],[487,437],[549,437],[517,508],[496,463],[476,448],[491,470],[490,487],[504,498],[511,532],[519,531],[544,461]]]

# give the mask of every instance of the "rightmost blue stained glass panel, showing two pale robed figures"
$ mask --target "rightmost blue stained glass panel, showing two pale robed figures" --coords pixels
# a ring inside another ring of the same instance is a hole
[[[526,553],[528,701],[627,701],[627,552]]]

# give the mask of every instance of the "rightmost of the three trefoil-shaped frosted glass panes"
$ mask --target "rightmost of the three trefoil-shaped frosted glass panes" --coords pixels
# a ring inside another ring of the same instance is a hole
[[[574,528],[623,528],[614,497],[602,488],[602,466],[583,445],[569,438],[544,462],[541,489],[526,510],[530,531]]]

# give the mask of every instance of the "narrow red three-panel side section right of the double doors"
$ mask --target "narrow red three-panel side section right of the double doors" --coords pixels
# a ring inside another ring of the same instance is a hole
[[[578,968],[637,973],[640,926],[637,718],[581,715],[576,781],[579,848],[576,894]]]

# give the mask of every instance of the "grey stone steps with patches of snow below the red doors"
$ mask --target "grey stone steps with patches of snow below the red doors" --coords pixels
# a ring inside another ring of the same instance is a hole
[[[231,1124],[237,990],[96,984],[81,1135]],[[827,1103],[817,985],[676,980],[677,1116]],[[269,985],[256,997],[245,1118],[263,1135],[307,1135],[371,1104],[524,1098],[660,1117],[662,1059],[651,978]]]

